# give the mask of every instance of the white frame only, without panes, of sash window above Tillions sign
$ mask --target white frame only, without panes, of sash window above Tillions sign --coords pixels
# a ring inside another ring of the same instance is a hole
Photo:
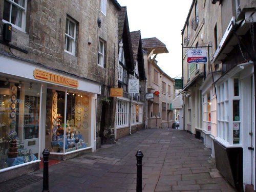
[[[68,33],[66,31],[66,28],[65,28],[65,52],[67,52],[67,53],[69,53],[71,55],[75,55],[75,48],[76,48],[76,22],[72,18],[70,18],[68,16],[67,16],[66,22],[68,22]],[[69,33],[70,33],[70,23],[74,24],[74,31],[73,31],[74,36],[73,37],[71,35],[69,35]],[[67,25],[67,23],[66,23],[66,25]],[[72,44],[71,44],[72,49],[71,49],[71,51],[67,50],[67,42],[68,42],[67,39],[68,38],[72,41]]]

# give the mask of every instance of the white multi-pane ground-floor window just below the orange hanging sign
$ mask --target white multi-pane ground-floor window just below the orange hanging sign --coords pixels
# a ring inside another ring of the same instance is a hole
[[[116,126],[129,125],[129,101],[118,99],[116,102]]]

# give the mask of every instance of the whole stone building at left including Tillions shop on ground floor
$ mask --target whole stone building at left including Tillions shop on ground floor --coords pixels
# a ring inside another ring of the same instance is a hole
[[[100,122],[114,124],[115,109],[102,113],[102,99],[117,77],[120,5],[5,0],[0,8],[0,172],[7,180],[38,168],[44,148],[58,159],[95,151]]]

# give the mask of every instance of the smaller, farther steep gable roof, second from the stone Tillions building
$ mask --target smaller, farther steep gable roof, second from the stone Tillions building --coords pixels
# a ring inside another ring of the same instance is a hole
[[[140,79],[145,80],[145,68],[144,68],[144,58],[142,52],[142,41],[140,31],[133,31],[130,32],[131,40],[132,40],[132,47],[133,47],[133,59],[134,63],[138,60],[138,70]]]

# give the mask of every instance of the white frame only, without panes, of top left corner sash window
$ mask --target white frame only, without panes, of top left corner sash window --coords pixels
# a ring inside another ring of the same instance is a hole
[[[21,25],[21,27],[19,27],[19,26],[15,25],[15,24],[12,24],[12,23],[11,23],[11,20],[5,20],[5,19],[3,19],[3,23],[11,24],[14,28],[16,28],[16,29],[18,29],[18,30],[20,30],[20,31],[25,32],[25,30],[26,30],[27,0],[24,0],[24,7],[22,7],[22,6],[18,5],[18,4],[16,4],[16,3],[14,2],[14,0],[5,0],[5,1],[6,1],[6,2],[9,2],[9,3],[11,4],[10,10],[9,10],[9,11],[10,11],[10,15],[12,14],[12,13],[11,13],[12,6],[16,6],[16,7],[18,7],[18,9],[22,9],[22,10],[23,10],[23,11],[22,11],[22,25]],[[11,16],[10,16],[10,19],[11,19]]]

